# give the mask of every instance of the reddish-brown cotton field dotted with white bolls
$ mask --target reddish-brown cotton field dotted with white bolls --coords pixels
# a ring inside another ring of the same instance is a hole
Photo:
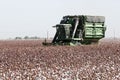
[[[81,46],[0,41],[0,80],[120,80],[120,41]]]

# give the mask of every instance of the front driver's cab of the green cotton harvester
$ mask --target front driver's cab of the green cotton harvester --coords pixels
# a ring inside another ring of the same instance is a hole
[[[71,24],[58,24],[56,27],[56,34],[53,38],[52,43],[64,43],[71,40],[70,28]]]

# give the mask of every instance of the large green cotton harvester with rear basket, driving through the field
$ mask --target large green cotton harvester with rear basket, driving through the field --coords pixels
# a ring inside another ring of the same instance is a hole
[[[105,37],[104,16],[64,16],[60,24],[53,26],[56,34],[51,42],[53,45],[80,45],[98,43]],[[50,44],[46,41],[44,45]]]

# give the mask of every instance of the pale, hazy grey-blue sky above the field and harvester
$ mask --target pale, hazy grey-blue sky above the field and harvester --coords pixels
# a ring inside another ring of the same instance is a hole
[[[0,0],[0,39],[53,37],[65,15],[105,16],[107,37],[120,38],[120,0]]]

